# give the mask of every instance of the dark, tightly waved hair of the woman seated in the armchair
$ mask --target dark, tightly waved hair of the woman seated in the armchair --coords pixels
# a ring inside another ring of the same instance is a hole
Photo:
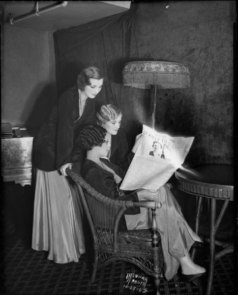
[[[77,144],[80,148],[91,150],[93,147],[101,147],[106,141],[107,131],[98,125],[84,127],[78,135]]]

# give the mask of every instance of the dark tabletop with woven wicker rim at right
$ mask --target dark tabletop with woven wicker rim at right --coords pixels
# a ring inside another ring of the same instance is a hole
[[[234,166],[223,164],[200,165],[175,172],[178,188],[204,197],[233,200]]]

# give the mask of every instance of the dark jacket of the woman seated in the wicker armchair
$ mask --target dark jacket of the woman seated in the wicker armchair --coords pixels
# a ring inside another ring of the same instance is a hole
[[[133,153],[132,153],[133,154]],[[132,157],[133,158],[133,157]],[[107,161],[109,162],[109,161]],[[129,162],[129,160],[128,160]],[[106,163],[106,162],[105,162]],[[108,163],[107,163],[108,164]],[[114,171],[119,175],[120,168],[117,165],[114,167]],[[110,167],[110,168],[111,168]],[[127,167],[128,168],[128,167]],[[86,159],[82,168],[82,177],[99,193],[102,195],[114,199],[114,200],[128,200],[138,202],[138,196],[136,192],[131,192],[126,195],[119,193],[118,184],[114,180],[114,176],[111,172],[101,168],[97,163]],[[128,208],[125,214],[138,214],[140,213],[139,207]],[[122,216],[119,222],[119,230],[126,230],[125,217]]]

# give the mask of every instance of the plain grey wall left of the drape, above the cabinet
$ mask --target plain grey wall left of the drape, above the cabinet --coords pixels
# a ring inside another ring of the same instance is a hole
[[[52,34],[1,27],[1,121],[39,127],[56,101]]]

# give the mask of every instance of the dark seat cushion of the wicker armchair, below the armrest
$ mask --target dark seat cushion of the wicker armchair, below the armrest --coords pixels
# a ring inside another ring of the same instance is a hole
[[[160,239],[160,236],[159,236],[159,239]],[[152,240],[151,231],[149,229],[118,232],[118,242],[121,244],[129,244],[129,243],[137,243],[137,242],[151,243],[151,240]]]

